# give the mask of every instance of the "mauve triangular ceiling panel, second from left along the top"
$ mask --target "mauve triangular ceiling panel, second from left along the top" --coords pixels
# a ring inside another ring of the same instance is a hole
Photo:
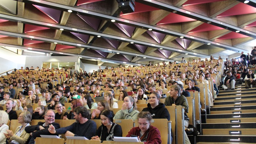
[[[59,23],[60,21],[60,16],[61,16],[61,11],[53,8],[47,8],[47,7],[42,7],[39,5],[34,5],[37,9],[39,9],[41,12],[43,12],[45,15],[50,17],[52,20],[54,20],[56,23]]]

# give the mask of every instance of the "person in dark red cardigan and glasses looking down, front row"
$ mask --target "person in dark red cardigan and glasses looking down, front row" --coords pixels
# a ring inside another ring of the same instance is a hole
[[[136,135],[138,136],[139,142],[144,142],[144,144],[161,144],[160,132],[156,127],[151,125],[151,119],[151,113],[140,112],[138,114],[139,127],[133,127],[126,137]]]

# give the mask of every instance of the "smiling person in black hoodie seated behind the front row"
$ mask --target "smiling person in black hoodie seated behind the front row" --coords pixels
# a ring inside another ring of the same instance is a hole
[[[142,111],[148,111],[151,113],[152,119],[167,119],[170,120],[170,114],[165,108],[163,103],[160,103],[159,94],[156,92],[152,92],[149,95],[149,103],[148,107],[144,108]]]

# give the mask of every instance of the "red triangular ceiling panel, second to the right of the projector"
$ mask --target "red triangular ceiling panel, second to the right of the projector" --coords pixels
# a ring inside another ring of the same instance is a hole
[[[191,19],[189,17],[181,16],[176,13],[170,13],[164,19],[160,20],[157,25],[160,24],[172,24],[172,23],[181,23],[186,21],[196,21],[195,19]]]

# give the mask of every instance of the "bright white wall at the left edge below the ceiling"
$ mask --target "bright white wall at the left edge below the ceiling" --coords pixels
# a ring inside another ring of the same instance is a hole
[[[13,68],[20,69],[20,67],[24,67],[25,61],[26,56],[0,48],[0,72],[5,72]]]

